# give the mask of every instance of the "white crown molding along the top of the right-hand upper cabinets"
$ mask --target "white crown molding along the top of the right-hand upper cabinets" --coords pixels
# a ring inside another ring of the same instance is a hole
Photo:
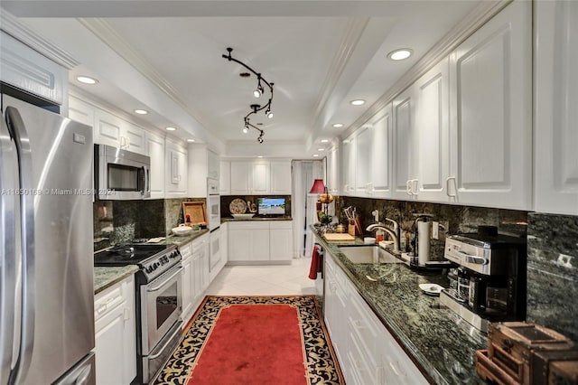
[[[448,56],[455,48],[475,33],[480,27],[487,23],[489,19],[499,13],[514,0],[497,0],[491,2],[481,2],[474,10],[461,19],[449,33],[424,54],[424,57],[409,69],[394,85],[387,89],[374,104],[372,104],[361,116],[341,134],[340,138],[346,138],[353,134],[355,130],[366,124],[380,110],[387,105],[407,87],[411,86],[425,72],[430,70],[435,64]]]

